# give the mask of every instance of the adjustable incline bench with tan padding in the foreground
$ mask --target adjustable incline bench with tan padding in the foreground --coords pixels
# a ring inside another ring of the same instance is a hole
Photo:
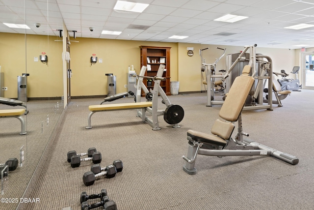
[[[195,160],[198,154],[209,156],[239,156],[239,155],[270,155],[296,165],[299,159],[287,153],[269,148],[251,140],[243,140],[249,134],[242,131],[241,111],[254,84],[254,78],[249,76],[251,67],[246,65],[241,76],[235,78],[228,97],[224,101],[219,117],[211,128],[211,134],[194,130],[187,131],[188,150],[183,171],[187,174],[196,174]],[[234,122],[238,121],[238,132],[231,138],[234,131]]]

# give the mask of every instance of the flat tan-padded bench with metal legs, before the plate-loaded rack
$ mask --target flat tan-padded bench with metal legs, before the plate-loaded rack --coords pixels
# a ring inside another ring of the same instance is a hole
[[[137,102],[137,103],[121,103],[121,104],[101,104],[101,105],[90,105],[88,109],[91,111],[88,115],[88,126],[86,129],[92,128],[91,126],[91,117],[96,112],[103,111],[114,111],[114,110],[128,110],[128,109],[142,109],[143,116],[142,121],[145,121],[145,112],[147,107],[152,107],[152,102]]]

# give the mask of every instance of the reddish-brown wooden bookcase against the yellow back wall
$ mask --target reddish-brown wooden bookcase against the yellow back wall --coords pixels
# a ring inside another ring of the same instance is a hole
[[[164,64],[165,70],[162,77],[166,81],[161,81],[160,86],[166,95],[170,93],[170,48],[171,47],[152,47],[152,46],[139,46],[141,49],[141,68],[143,65],[147,66],[145,76],[154,77],[157,74],[160,64]],[[154,82],[150,79],[143,79],[144,84],[148,90],[153,89]],[[142,95],[145,96],[145,95]]]

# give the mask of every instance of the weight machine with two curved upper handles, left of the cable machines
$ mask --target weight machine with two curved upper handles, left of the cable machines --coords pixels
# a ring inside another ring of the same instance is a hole
[[[205,48],[205,49],[200,49],[200,56],[201,56],[201,60],[202,60],[202,67],[201,67],[201,71],[205,73],[205,78],[203,76],[203,73],[201,73],[202,76],[202,83],[205,87],[205,90],[207,92],[207,105],[206,106],[211,106],[211,104],[214,105],[222,105],[223,101],[215,101],[215,88],[223,90],[223,95],[226,94],[226,89],[228,88],[228,84],[229,84],[229,80],[226,81],[222,81],[222,80],[218,80],[216,81],[216,78],[223,78],[225,75],[215,75],[216,74],[216,64],[217,62],[224,57],[226,50],[227,49],[222,49],[217,47],[217,49],[219,50],[223,50],[224,52],[222,53],[222,55],[218,58],[215,59],[215,62],[213,63],[206,63],[206,60],[202,57],[202,51],[207,50],[209,48]],[[223,72],[223,70],[221,70]]]

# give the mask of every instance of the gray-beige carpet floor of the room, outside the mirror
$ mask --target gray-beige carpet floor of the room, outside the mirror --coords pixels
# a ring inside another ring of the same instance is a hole
[[[249,139],[297,156],[299,164],[270,156],[199,155],[196,175],[182,170],[186,131],[210,132],[221,107],[206,107],[206,93],[169,96],[172,104],[184,109],[181,128],[172,128],[160,116],[162,129],[157,131],[136,118],[135,110],[96,113],[93,128],[85,129],[88,106],[102,98],[72,100],[26,192],[27,198],[39,198],[40,203],[21,204],[19,209],[80,210],[82,191],[93,194],[105,188],[118,210],[313,210],[313,93],[292,92],[282,101],[283,107],[242,113]],[[123,98],[114,103],[132,101]],[[90,147],[102,152],[102,167],[120,159],[123,171],[85,186],[82,176],[91,162],[71,168],[66,154]]]

